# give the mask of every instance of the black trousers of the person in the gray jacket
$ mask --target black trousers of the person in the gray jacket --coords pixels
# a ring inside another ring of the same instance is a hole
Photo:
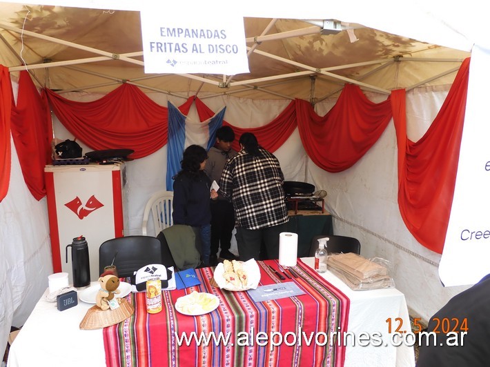
[[[233,204],[227,200],[211,201],[211,256],[231,248],[231,232],[235,228]]]

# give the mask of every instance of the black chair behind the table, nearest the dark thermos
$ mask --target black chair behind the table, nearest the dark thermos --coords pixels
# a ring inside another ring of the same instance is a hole
[[[100,274],[105,266],[112,264],[114,257],[119,277],[130,277],[135,270],[148,264],[163,264],[157,237],[126,236],[105,241],[99,247]]]

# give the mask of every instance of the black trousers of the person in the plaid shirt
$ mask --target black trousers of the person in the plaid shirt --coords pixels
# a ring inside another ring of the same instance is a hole
[[[279,259],[279,235],[286,232],[286,223],[279,226],[249,230],[237,227],[237,246],[240,260]],[[265,257],[260,256],[264,244]]]

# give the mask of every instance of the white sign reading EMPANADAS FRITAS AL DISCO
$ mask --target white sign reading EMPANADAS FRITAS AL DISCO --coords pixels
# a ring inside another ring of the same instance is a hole
[[[243,17],[215,11],[209,3],[199,6],[173,12],[164,3],[145,1],[141,34],[147,74],[249,71]]]

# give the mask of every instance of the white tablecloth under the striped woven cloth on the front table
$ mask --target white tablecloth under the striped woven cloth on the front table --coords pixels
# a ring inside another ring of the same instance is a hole
[[[303,259],[313,266],[313,258]],[[351,299],[349,331],[354,335],[378,332],[388,346],[347,346],[345,367],[413,367],[413,348],[391,346],[388,324],[401,317],[404,328],[410,328],[405,297],[395,288],[353,291],[340,279],[326,272],[324,277]],[[46,290],[48,292],[48,290]],[[32,314],[14,340],[8,356],[8,367],[21,366],[106,366],[102,330],[80,330],[79,324],[92,304],[79,301],[68,310],[59,311],[56,303],[41,297]]]

